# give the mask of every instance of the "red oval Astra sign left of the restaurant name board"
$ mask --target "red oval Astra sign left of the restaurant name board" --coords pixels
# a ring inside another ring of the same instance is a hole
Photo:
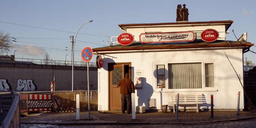
[[[133,42],[134,37],[131,33],[121,33],[117,36],[117,42],[120,43],[121,45],[129,45]]]

